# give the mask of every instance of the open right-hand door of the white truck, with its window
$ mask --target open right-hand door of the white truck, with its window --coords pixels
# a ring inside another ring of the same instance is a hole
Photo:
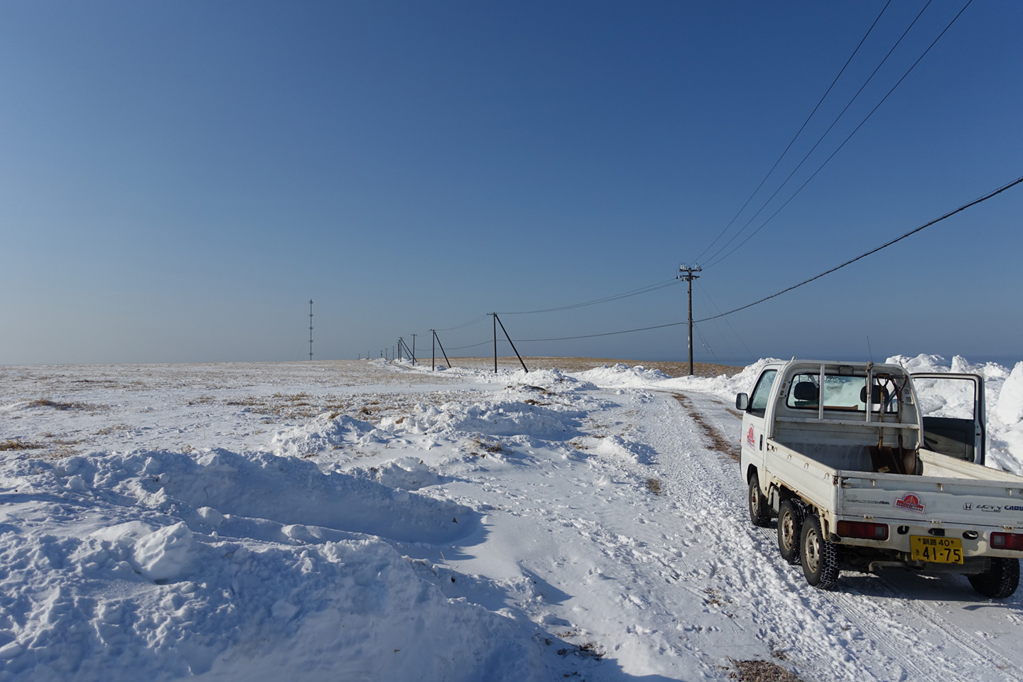
[[[924,421],[924,447],[984,463],[984,379],[978,374],[913,374]]]

